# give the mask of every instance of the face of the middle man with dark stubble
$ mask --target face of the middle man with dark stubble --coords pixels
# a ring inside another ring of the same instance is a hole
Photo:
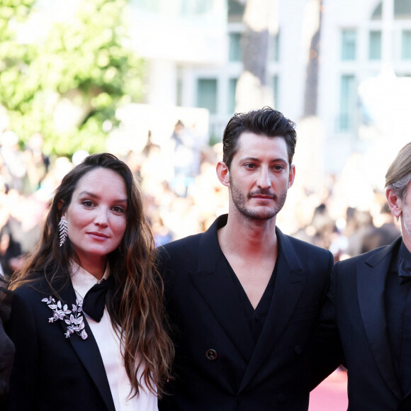
[[[230,200],[244,217],[274,218],[294,181],[286,141],[283,137],[244,132],[237,147],[229,171]]]

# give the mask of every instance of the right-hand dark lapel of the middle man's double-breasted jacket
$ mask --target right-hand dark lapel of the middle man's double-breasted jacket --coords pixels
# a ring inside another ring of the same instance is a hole
[[[293,245],[278,228],[276,232],[281,252],[278,254],[274,295],[252,359],[244,373],[240,391],[247,386],[266,357],[275,349],[278,338],[291,320],[305,283],[307,271],[300,264]]]

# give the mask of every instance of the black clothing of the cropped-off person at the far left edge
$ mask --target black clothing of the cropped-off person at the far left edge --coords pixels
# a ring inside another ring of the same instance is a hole
[[[9,390],[9,377],[13,366],[14,345],[4,331],[4,322],[9,319],[11,292],[1,287],[6,283],[0,278],[0,409]]]

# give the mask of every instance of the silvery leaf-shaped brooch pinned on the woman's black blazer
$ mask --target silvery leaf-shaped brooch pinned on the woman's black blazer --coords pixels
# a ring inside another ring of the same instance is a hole
[[[48,322],[55,322],[57,320],[64,320],[67,324],[67,331],[64,333],[66,338],[69,338],[71,334],[78,334],[82,339],[86,339],[87,333],[84,330],[83,319],[83,302],[76,300],[75,304],[72,304],[72,310],[69,310],[67,304],[62,305],[60,300],[55,302],[55,299],[50,295],[49,298],[43,298],[42,303],[47,303],[47,307],[53,311],[53,316],[48,319]]]

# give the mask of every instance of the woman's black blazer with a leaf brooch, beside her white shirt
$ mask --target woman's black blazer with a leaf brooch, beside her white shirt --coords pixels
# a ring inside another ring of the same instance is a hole
[[[6,409],[114,411],[103,360],[85,317],[88,338],[66,338],[64,321],[48,321],[52,310],[42,299],[49,295],[45,281],[22,286],[13,295],[8,331],[16,359]],[[76,302],[71,282],[60,297],[69,308]]]

